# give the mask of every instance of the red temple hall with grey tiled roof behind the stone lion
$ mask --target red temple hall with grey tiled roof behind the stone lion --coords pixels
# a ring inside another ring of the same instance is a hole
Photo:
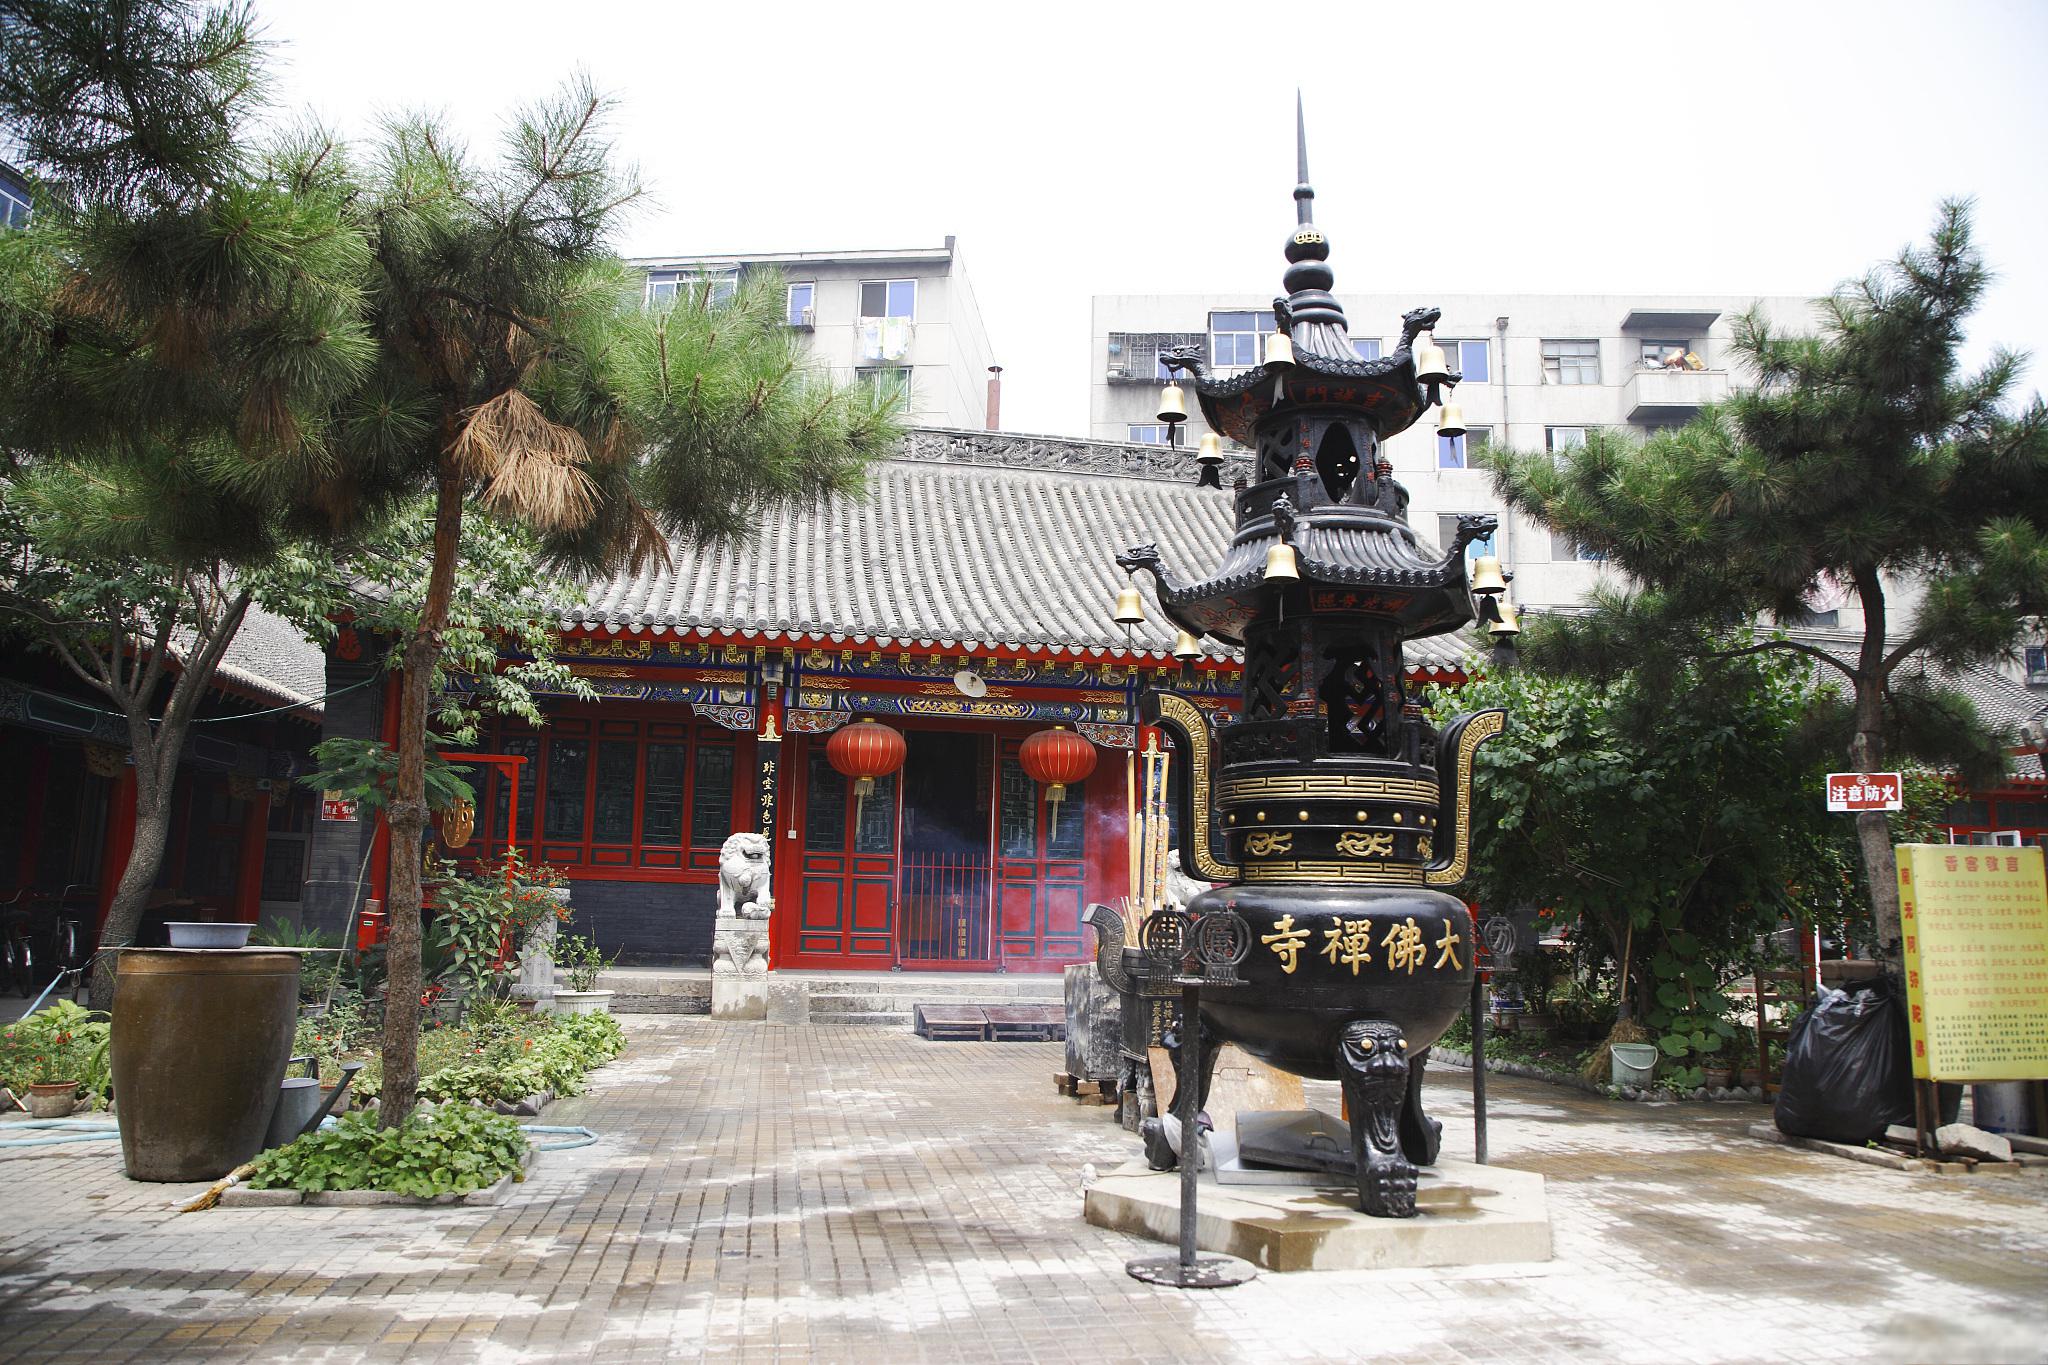
[[[623,962],[709,960],[735,831],[772,839],[776,968],[1083,960],[1083,907],[1130,892],[1137,694],[1169,679],[1221,710],[1239,686],[1214,647],[1184,673],[1155,600],[1112,620],[1114,553],[1157,536],[1194,559],[1229,526],[1231,491],[1196,487],[1188,452],[918,428],[864,501],[780,508],[748,544],[594,583],[561,653],[602,700],[549,698],[545,729],[479,743],[520,761],[479,767],[475,849],[516,841],[561,868],[578,925]],[[332,692],[375,667],[354,653],[330,659]],[[1468,659],[1456,636],[1421,643],[1409,688],[1462,681]],[[371,692],[336,696],[328,735],[387,729]],[[860,718],[905,739],[864,796],[825,755]],[[1020,759],[1053,726],[1098,759],[1059,802]],[[346,923],[365,853],[365,827],[319,825],[311,919]]]

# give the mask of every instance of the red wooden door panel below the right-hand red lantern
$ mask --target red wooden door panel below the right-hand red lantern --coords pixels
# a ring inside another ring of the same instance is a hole
[[[1087,784],[1069,786],[1055,814],[1018,761],[1020,745],[1004,739],[997,765],[995,933],[1004,966],[1034,972],[1087,958]]]

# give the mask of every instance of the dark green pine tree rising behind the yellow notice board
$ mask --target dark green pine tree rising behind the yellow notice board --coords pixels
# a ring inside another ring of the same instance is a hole
[[[1497,452],[1509,505],[1640,585],[1532,632],[1530,659],[1675,679],[1690,659],[1804,655],[1841,690],[1833,729],[1849,769],[1919,757],[1997,772],[2003,745],[1968,700],[1909,663],[2005,655],[2048,608],[2048,409],[2013,411],[2021,356],[2001,350],[1974,375],[1956,356],[1987,278],[1968,205],[1948,203],[1925,246],[1819,303],[1817,336],[1739,319],[1753,391],[1640,444],[1597,432],[1556,458]],[[1720,634],[1759,614],[1796,622],[1829,589],[1862,608],[1851,657]],[[1819,802],[1819,788],[1800,798]],[[1853,821],[1878,945],[1896,960],[1892,829],[1882,812]]]

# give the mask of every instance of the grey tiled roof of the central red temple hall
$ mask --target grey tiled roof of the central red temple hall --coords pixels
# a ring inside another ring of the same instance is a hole
[[[1026,467],[991,463],[1006,448]],[[1126,579],[1114,555],[1151,540],[1167,563],[1204,573],[1231,540],[1229,489],[1090,471],[1114,469],[1130,452],[1108,442],[913,432],[905,456],[874,465],[866,499],[778,508],[745,544],[678,546],[668,569],[592,583],[563,624],[1122,649],[1110,610]],[[1126,467],[1143,471],[1143,458]],[[1139,583],[1147,620],[1130,645],[1165,657],[1171,626],[1151,579]],[[1208,649],[1229,657],[1214,641]],[[1468,659],[1456,636],[1409,647],[1409,665]]]

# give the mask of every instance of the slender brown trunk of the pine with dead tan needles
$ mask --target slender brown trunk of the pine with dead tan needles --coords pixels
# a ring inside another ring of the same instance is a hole
[[[442,448],[453,444],[442,442]],[[383,1087],[377,1126],[397,1128],[420,1097],[420,847],[426,833],[426,716],[432,704],[440,632],[455,596],[455,557],[463,534],[463,481],[440,473],[434,499],[434,565],[420,626],[406,643],[397,704],[397,780],[385,821],[391,827],[391,939],[385,948]]]

